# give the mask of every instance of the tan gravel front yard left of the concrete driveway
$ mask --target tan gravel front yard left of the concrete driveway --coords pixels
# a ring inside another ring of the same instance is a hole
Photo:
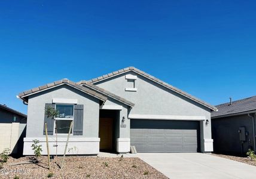
[[[11,158],[0,169],[0,178],[167,178],[139,158],[102,158],[88,156],[67,156],[65,166],[60,169],[62,157],[51,161],[48,170],[47,156],[41,156],[39,163],[9,166],[11,163],[27,162],[29,157]],[[25,172],[24,172],[25,171]]]

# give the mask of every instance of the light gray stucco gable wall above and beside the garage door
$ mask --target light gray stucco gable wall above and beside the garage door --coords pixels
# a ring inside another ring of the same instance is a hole
[[[138,76],[135,80],[135,88],[138,89],[136,92],[125,91],[126,87],[130,87],[130,83],[125,79],[127,74]],[[203,121],[201,122],[201,140],[211,138],[211,110],[208,107],[144,78],[144,76],[135,72],[127,72],[96,82],[95,85],[135,103],[129,114],[205,116],[210,124],[206,126]]]

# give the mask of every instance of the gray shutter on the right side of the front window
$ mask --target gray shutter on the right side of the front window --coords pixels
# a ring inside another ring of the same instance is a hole
[[[73,135],[83,135],[84,105],[75,104]]]

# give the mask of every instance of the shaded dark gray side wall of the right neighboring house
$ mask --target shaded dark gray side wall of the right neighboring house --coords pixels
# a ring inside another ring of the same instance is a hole
[[[243,153],[254,146],[254,135],[252,131],[252,119],[248,115],[237,115],[226,118],[212,119],[212,138],[214,139],[214,152],[217,153],[241,153],[241,142],[239,140],[239,127],[245,126],[248,131]],[[251,140],[251,142],[249,142]]]

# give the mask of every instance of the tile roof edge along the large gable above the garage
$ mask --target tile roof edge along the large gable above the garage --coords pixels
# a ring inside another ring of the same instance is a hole
[[[102,75],[102,76],[99,76],[97,78],[93,78],[93,79],[91,79],[87,82],[90,82],[90,83],[94,84],[95,82],[99,82],[99,81],[102,81],[104,79],[111,78],[112,76],[116,76],[116,75],[119,75],[121,73],[129,72],[129,71],[133,71],[133,72],[138,73],[139,75],[145,76],[145,78],[151,79],[151,81],[157,82],[158,84],[162,85],[163,87],[169,88],[170,90],[175,91],[178,94],[184,95],[185,97],[190,98],[191,100],[196,101],[197,103],[202,104],[203,106],[206,106],[211,110],[217,110],[217,108],[215,106],[212,106],[211,104],[208,104],[205,101],[202,101],[199,98],[196,98],[193,95],[188,94],[187,92],[181,91],[178,88],[173,87],[172,85],[169,85],[166,82],[163,82],[160,79],[149,75],[148,73],[145,73],[145,72],[143,72],[139,69],[136,69],[135,67],[126,67],[124,69],[120,69],[120,70],[117,70],[115,72],[108,73],[107,75]],[[80,83],[81,82],[78,82],[78,84],[80,84]]]

